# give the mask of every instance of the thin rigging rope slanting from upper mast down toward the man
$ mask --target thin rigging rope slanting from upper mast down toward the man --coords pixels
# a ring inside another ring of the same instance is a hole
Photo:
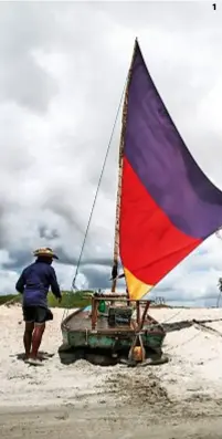
[[[119,115],[119,111],[120,111],[121,103],[123,103],[124,95],[125,95],[125,90],[126,90],[126,85],[127,85],[127,79],[128,79],[128,74],[127,74],[127,77],[126,77],[126,81],[125,81],[125,84],[124,84],[124,88],[123,88],[123,92],[121,92],[121,97],[120,97],[120,101],[119,101],[119,104],[118,104],[118,107],[117,107],[116,117],[114,119],[114,125],[113,125],[113,128],[112,128],[108,146],[107,146],[107,149],[106,149],[106,155],[105,155],[104,163],[103,163],[103,168],[102,168],[101,176],[99,176],[99,179],[98,179],[98,186],[97,186],[96,194],[95,194],[94,201],[93,201],[93,206],[92,206],[92,209],[91,209],[91,215],[89,215],[89,219],[88,219],[88,222],[87,222],[87,227],[86,227],[86,230],[85,230],[85,236],[84,236],[84,239],[83,239],[83,244],[82,244],[80,258],[78,258],[78,261],[77,261],[75,275],[74,275],[74,279],[73,279],[73,282],[72,282],[72,286],[71,286],[71,291],[72,292],[75,289],[75,282],[76,282],[76,278],[77,278],[77,274],[78,274],[78,269],[80,269],[81,261],[82,261],[82,255],[83,255],[83,251],[84,251],[84,247],[85,247],[88,229],[89,229],[89,226],[91,226],[91,221],[92,221],[95,203],[96,203],[96,200],[97,200],[101,182],[102,182],[103,175],[104,175],[104,169],[105,169],[105,166],[106,166],[108,153],[109,153],[109,149],[110,149],[112,140],[113,140],[113,137],[114,137],[114,132],[115,132],[117,119],[118,119],[118,115]],[[68,313],[67,309],[64,310],[62,321],[64,320],[65,312],[66,312],[66,315],[67,315],[67,313]]]

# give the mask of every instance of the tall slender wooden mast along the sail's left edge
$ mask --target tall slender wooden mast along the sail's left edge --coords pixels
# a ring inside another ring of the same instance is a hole
[[[119,257],[119,215],[120,215],[120,199],[121,199],[121,178],[123,178],[123,158],[124,158],[124,146],[125,146],[125,133],[127,123],[127,111],[128,111],[128,91],[129,83],[131,79],[133,63],[136,55],[137,38],[134,44],[134,52],[131,56],[131,63],[127,75],[126,91],[124,97],[124,107],[121,115],[121,132],[120,132],[120,143],[119,143],[119,159],[118,159],[118,186],[117,186],[117,197],[116,197],[116,221],[115,221],[115,239],[114,239],[114,260],[112,270],[112,292],[115,293],[118,275],[118,257]]]

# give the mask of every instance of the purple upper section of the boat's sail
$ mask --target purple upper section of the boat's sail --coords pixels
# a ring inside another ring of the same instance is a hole
[[[171,222],[204,239],[222,224],[222,192],[189,153],[137,43],[128,91],[125,156]]]

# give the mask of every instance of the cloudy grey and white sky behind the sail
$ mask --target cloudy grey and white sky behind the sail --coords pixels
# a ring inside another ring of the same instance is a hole
[[[221,22],[211,2],[0,2],[1,293],[40,245],[57,250],[70,289],[135,36],[189,149],[222,188]],[[119,122],[78,286],[109,285]],[[215,304],[221,274],[212,237],[156,294]]]

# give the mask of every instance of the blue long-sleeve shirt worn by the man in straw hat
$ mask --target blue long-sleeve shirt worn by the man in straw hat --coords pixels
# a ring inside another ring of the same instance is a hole
[[[24,306],[47,307],[50,288],[55,297],[61,297],[53,266],[42,261],[35,261],[27,266],[15,284],[17,291],[23,295]]]

